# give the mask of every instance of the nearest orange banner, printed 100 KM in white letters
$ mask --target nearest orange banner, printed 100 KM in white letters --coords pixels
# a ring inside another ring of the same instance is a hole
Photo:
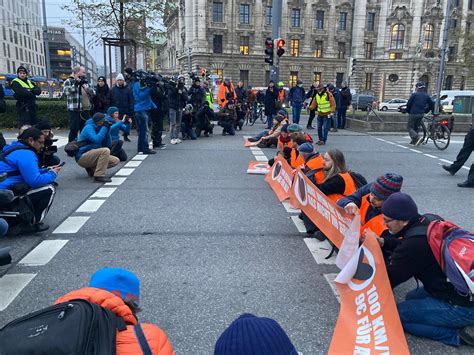
[[[354,260],[352,278],[336,282],[341,310],[328,353],[409,354],[378,242],[367,238]]]

